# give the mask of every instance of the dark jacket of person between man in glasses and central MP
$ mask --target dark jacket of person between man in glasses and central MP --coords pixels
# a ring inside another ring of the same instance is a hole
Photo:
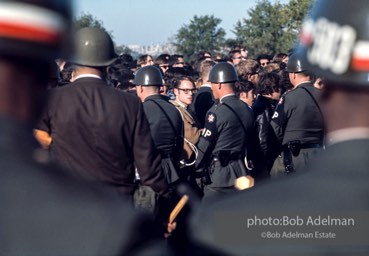
[[[198,92],[193,96],[193,101],[189,106],[189,110],[195,114],[200,128],[204,128],[206,113],[214,103],[213,91],[209,86],[201,86]]]

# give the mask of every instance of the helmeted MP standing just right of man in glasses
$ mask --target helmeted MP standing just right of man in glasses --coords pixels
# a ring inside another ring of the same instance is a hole
[[[219,103],[208,111],[197,144],[195,168],[204,167],[204,197],[233,191],[235,180],[247,174],[244,157],[253,113],[235,95],[237,80],[236,70],[225,62],[216,64],[209,74],[214,98]]]

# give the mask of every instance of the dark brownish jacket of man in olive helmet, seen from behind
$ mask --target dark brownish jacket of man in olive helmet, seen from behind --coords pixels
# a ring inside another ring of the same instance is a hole
[[[143,184],[167,190],[140,100],[101,79],[79,78],[51,90],[36,128],[51,134],[57,160],[88,177],[129,195],[136,166]]]

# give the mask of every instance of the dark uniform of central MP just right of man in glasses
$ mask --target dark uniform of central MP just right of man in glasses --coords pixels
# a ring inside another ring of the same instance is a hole
[[[233,187],[235,179],[246,175],[238,161],[233,160],[242,159],[245,155],[253,121],[252,110],[234,94],[224,97],[208,111],[205,127],[197,144],[199,156],[195,168],[208,165],[211,158],[222,157],[224,153],[228,154],[228,160],[231,160],[227,166],[216,166],[212,173],[211,187]]]

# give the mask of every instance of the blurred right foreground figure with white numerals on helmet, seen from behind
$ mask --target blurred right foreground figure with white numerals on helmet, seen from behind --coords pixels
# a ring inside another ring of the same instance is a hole
[[[327,149],[307,172],[204,205],[194,232],[200,241],[236,255],[369,254],[368,17],[365,0],[316,2],[300,53],[326,78]]]

